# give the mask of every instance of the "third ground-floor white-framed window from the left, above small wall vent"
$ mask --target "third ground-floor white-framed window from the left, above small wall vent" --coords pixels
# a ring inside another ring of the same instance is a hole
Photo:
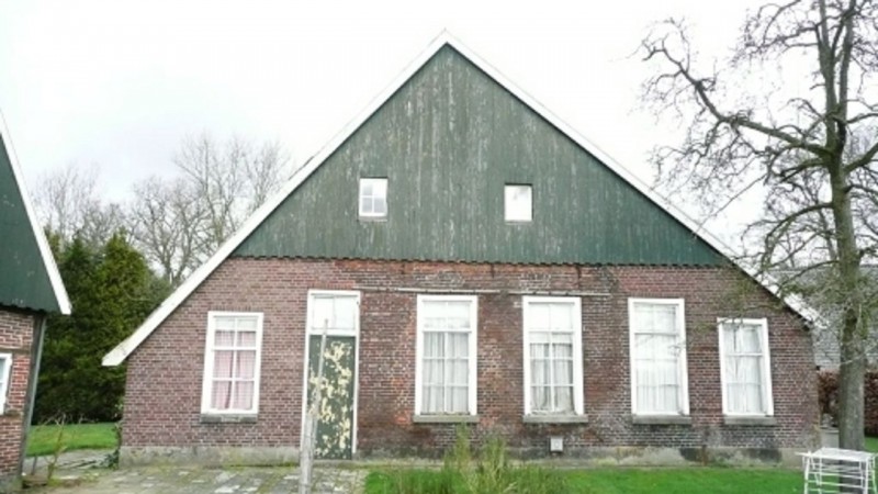
[[[578,297],[525,296],[525,415],[583,415]]]

